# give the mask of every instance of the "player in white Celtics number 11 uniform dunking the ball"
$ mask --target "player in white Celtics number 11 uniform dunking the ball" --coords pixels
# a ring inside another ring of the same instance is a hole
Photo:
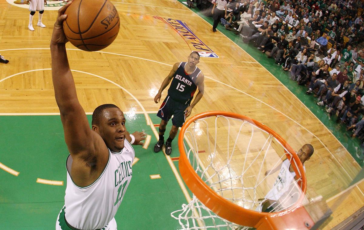
[[[131,143],[139,144],[145,134],[130,135],[123,112],[113,104],[95,109],[90,129],[66,53],[62,22],[70,4],[59,9],[50,44],[55,98],[70,152],[64,207],[56,220],[56,230],[116,230],[114,216],[132,177],[135,153]]]

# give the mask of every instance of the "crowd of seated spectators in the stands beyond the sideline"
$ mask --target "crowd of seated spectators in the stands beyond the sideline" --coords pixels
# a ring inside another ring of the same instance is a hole
[[[215,20],[267,53],[318,106],[355,130],[351,136],[364,140],[361,1],[213,0],[215,6],[221,2],[225,11],[220,5]]]

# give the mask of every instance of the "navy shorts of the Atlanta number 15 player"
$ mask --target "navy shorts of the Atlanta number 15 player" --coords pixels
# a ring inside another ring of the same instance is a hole
[[[173,115],[172,124],[176,127],[182,127],[183,123],[186,121],[185,110],[188,106],[189,104],[177,102],[167,95],[158,110],[157,116],[167,122]]]

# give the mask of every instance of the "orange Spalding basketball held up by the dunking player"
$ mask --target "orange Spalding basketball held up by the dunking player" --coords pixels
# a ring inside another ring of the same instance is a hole
[[[119,14],[109,0],[74,0],[65,14],[67,39],[84,51],[106,48],[119,33]]]

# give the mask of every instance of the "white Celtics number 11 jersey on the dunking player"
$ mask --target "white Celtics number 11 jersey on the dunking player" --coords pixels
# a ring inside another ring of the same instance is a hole
[[[64,216],[72,227],[102,229],[114,219],[130,183],[131,165],[135,157],[134,149],[126,139],[124,144],[119,153],[109,150],[109,160],[100,177],[83,188],[76,186],[70,177],[72,158],[68,156]],[[108,226],[105,229],[114,228]]]

